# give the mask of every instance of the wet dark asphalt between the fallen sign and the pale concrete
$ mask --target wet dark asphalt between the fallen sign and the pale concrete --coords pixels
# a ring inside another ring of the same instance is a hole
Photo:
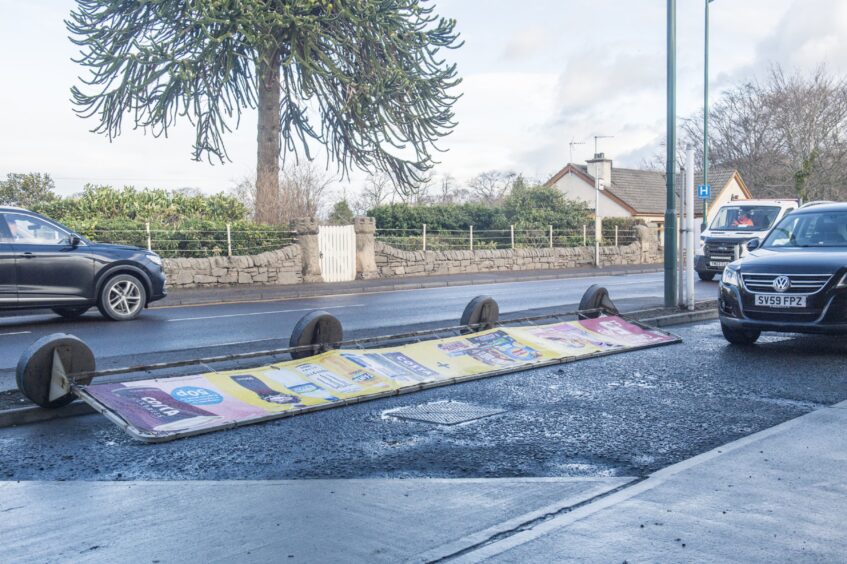
[[[639,476],[847,399],[847,342],[717,322],[682,344],[338,407],[161,445],[99,415],[0,429],[0,478],[20,480]],[[455,426],[390,413],[437,401],[505,412]]]

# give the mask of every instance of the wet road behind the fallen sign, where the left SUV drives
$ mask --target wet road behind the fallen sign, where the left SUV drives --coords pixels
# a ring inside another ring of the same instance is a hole
[[[314,309],[338,317],[350,336],[381,334],[397,327],[455,324],[468,301],[480,294],[493,296],[502,313],[549,308],[568,311],[575,309],[585,289],[595,283],[606,286],[614,300],[630,309],[662,301],[662,274],[650,273],[173,306],[145,311],[125,323],[104,321],[96,310],[77,321],[53,314],[5,317],[0,318],[0,390],[14,387],[13,369],[21,352],[50,333],[71,333],[83,339],[94,351],[98,367],[110,368],[286,346],[295,323]],[[698,281],[696,288],[703,298],[716,293],[716,283]]]

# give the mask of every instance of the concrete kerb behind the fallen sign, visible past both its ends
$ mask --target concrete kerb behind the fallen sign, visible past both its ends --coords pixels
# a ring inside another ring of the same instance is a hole
[[[717,302],[701,302],[698,305],[706,309],[682,313],[667,313],[667,310],[664,309],[645,310],[633,312],[637,314],[633,318],[641,323],[655,325],[656,327],[669,327],[717,318]],[[624,314],[626,315],[626,312]],[[70,405],[59,409],[44,409],[37,406],[18,407],[0,410],[0,428],[50,421],[52,419],[61,419],[76,415],[88,415],[91,413],[95,413],[95,411],[80,401],[74,401]]]

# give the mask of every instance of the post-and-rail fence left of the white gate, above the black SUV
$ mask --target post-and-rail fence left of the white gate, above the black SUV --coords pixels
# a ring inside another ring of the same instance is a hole
[[[291,245],[297,233],[283,229],[94,229],[85,233],[101,243],[133,245],[164,258],[255,255]]]

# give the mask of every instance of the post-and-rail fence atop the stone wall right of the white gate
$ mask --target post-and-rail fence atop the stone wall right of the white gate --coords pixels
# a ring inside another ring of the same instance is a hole
[[[594,225],[570,229],[485,229],[473,226],[462,230],[377,229],[376,240],[404,251],[450,251],[483,249],[545,249],[554,247],[593,246]],[[603,246],[629,245],[636,240],[635,229],[607,226],[602,229]]]

